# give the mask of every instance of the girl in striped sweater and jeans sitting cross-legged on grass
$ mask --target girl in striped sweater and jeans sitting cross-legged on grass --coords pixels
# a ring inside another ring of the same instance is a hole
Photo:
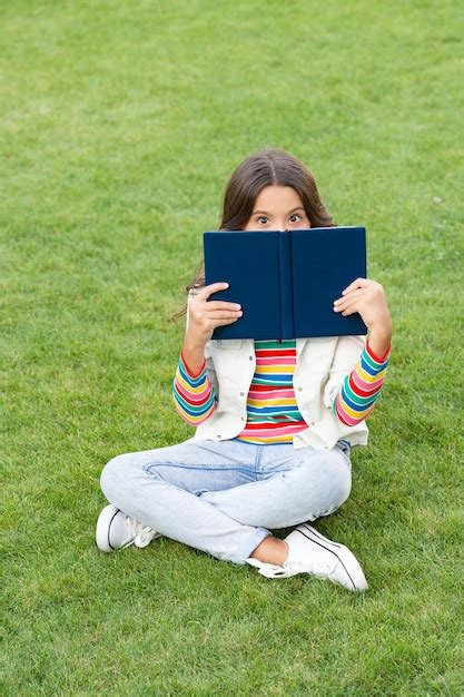
[[[313,175],[295,157],[264,150],[233,174],[224,230],[334,225]],[[227,281],[227,279],[225,279]],[[378,283],[356,278],[334,312],[358,312],[364,336],[294,341],[211,340],[243,310],[208,300],[227,283],[188,287],[187,328],[172,394],[197,428],[178,445],[119,455],[101,474],[110,501],[97,523],[102,551],[159,536],[265,577],[312,573],[363,591],[353,552],[307,521],[335,511],[351,490],[351,448],[367,443],[391,351],[392,321]],[[273,529],[296,526],[285,539]]]

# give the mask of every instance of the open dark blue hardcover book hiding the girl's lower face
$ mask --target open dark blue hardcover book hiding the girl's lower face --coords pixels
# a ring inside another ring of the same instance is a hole
[[[204,233],[206,285],[229,287],[209,300],[239,303],[243,316],[213,338],[303,338],[366,334],[356,313],[344,317],[334,301],[366,277],[364,227],[286,232]]]

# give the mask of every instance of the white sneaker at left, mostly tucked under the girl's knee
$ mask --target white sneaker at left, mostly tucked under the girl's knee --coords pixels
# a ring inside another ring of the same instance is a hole
[[[130,544],[147,547],[161,534],[155,532],[130,516],[126,516],[116,505],[106,505],[98,517],[96,541],[102,552],[113,552]]]

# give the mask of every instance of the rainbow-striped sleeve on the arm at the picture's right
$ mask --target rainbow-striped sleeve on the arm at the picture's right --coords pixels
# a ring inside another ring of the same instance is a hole
[[[334,400],[334,414],[342,423],[354,426],[372,412],[384,386],[391,351],[392,347],[379,359],[367,340],[356,366]]]

